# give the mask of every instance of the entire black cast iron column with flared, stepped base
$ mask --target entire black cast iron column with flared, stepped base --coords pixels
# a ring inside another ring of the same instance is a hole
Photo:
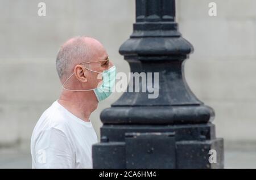
[[[193,46],[177,27],[175,0],[136,0],[134,32],[119,53],[131,72],[159,73],[159,96],[125,92],[102,111],[93,168],[224,168],[214,111],[185,81],[184,60]]]

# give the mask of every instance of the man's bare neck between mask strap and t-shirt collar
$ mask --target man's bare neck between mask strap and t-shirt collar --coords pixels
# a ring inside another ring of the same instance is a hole
[[[89,122],[90,114],[98,106],[98,101],[93,91],[69,92],[64,90],[58,102],[69,112],[85,122]]]

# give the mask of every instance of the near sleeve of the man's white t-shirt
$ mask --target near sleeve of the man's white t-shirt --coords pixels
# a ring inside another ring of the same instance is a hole
[[[35,168],[75,168],[72,145],[63,131],[49,128],[38,136]]]

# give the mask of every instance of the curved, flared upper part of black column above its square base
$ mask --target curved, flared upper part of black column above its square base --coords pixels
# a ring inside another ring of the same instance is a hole
[[[214,117],[213,109],[196,98],[184,78],[184,60],[193,46],[177,28],[174,0],[136,1],[134,32],[119,53],[131,72],[159,73],[159,97],[127,90],[101,113],[103,123],[207,123]]]

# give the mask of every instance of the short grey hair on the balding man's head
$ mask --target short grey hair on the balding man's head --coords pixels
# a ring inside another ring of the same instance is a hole
[[[60,80],[71,74],[73,66],[88,61],[89,46],[85,38],[85,36],[77,36],[61,46],[56,57],[56,70]]]

